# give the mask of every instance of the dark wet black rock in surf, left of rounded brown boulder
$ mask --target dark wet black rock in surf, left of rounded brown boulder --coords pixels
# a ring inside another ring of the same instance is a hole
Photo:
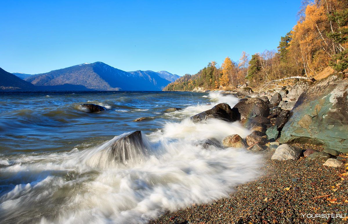
[[[191,120],[193,122],[206,121],[209,118],[216,118],[225,121],[237,121],[237,113],[231,109],[231,107],[226,103],[220,103],[214,106],[212,109],[203,111],[199,114],[193,115]]]

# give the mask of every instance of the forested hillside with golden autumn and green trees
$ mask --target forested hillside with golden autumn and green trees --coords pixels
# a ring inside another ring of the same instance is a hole
[[[227,57],[195,75],[185,75],[164,91],[191,91],[195,87],[236,88],[248,82],[257,86],[292,76],[314,77],[327,66],[336,71],[348,68],[348,0],[303,1],[297,24],[280,37],[277,50],[251,55],[242,52],[239,61]]]

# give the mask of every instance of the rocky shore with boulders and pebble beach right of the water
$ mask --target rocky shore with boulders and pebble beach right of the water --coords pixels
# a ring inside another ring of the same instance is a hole
[[[241,99],[232,108],[218,104],[191,120],[239,121],[250,129],[245,139],[231,133],[221,145],[262,154],[264,175],[238,186],[229,198],[168,212],[150,223],[347,223],[345,76],[225,94]]]

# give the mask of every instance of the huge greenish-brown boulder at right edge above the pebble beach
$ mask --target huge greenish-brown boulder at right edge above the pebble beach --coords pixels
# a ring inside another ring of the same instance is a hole
[[[337,75],[303,92],[280,135],[280,143],[321,144],[348,153],[348,80]]]

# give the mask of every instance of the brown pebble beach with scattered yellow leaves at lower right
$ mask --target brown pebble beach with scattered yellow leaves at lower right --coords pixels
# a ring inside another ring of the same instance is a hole
[[[296,144],[302,149],[307,144]],[[310,146],[321,151],[321,147]],[[322,161],[277,161],[264,153],[264,172],[257,180],[240,184],[229,197],[210,204],[166,212],[155,223],[346,223],[348,179],[346,166],[327,167]],[[340,155],[342,156],[342,154]],[[347,163],[346,155],[341,160]],[[342,175],[343,173],[343,175]],[[301,215],[302,214],[302,215]],[[303,216],[303,214],[306,214]],[[307,218],[310,214],[310,218]],[[342,218],[311,218],[312,214],[341,214]],[[345,218],[346,217],[346,218]]]

